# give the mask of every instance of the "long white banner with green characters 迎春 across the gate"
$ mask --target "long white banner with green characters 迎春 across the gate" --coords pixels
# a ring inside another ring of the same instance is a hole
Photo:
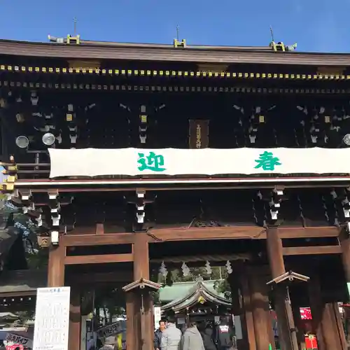
[[[349,174],[350,148],[50,148],[50,178],[106,175]]]

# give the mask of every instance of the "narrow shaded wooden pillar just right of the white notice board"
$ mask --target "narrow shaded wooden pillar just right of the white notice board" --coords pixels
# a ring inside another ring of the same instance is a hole
[[[80,290],[76,286],[71,287],[71,304],[69,307],[69,350],[80,349],[81,311]]]

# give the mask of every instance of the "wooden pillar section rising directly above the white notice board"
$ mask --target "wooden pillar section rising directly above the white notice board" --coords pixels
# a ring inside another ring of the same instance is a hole
[[[65,247],[50,245],[48,254],[48,287],[64,286]]]

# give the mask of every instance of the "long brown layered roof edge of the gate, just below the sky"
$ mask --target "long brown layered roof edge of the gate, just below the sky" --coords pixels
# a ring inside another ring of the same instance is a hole
[[[313,66],[350,66],[350,54],[274,52],[265,48],[196,46],[174,48],[172,45],[146,45],[86,42],[80,45],[0,41],[1,55],[64,59],[126,59],[135,61],[298,64]]]

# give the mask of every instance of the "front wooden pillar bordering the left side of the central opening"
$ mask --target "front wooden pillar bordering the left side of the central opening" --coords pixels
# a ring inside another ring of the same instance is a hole
[[[149,279],[148,236],[145,232],[135,235],[134,281]],[[141,311],[141,293],[143,311]],[[131,290],[127,293],[127,349],[153,349],[153,300],[148,292]]]

